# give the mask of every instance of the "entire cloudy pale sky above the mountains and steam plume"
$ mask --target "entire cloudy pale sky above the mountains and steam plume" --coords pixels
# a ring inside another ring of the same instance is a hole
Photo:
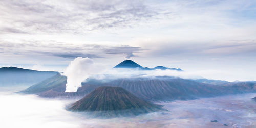
[[[256,80],[256,1],[0,2],[0,67],[63,71],[77,57]]]

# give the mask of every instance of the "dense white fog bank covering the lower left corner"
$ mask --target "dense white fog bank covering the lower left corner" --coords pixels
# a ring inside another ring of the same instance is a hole
[[[79,127],[82,121],[64,109],[69,101],[34,95],[0,95],[0,127]]]

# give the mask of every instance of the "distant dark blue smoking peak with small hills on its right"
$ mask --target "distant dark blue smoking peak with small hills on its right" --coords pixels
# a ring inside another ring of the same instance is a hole
[[[148,68],[148,67],[142,67],[139,64],[135,63],[132,60],[125,60],[121,63],[119,63],[118,65],[116,65],[114,68],[137,68],[140,70],[176,70],[176,71],[183,71],[180,68],[168,68],[168,67],[164,67],[164,66],[157,66],[155,68]]]

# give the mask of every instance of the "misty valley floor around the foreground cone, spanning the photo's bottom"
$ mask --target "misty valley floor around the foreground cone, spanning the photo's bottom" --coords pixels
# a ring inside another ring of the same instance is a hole
[[[158,103],[168,112],[88,118],[65,107],[74,100],[0,93],[0,127],[255,127],[256,93]],[[226,124],[227,126],[225,126]]]

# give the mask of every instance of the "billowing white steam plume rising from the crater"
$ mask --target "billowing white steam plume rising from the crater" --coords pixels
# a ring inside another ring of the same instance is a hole
[[[90,58],[77,57],[70,62],[69,66],[64,71],[67,76],[67,84],[65,92],[76,92],[81,83],[86,81],[91,75],[102,73],[105,70],[102,64],[94,63]]]

